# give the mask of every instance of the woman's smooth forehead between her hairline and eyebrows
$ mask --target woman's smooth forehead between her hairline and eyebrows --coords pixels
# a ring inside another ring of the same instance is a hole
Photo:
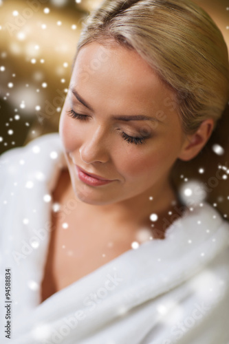
[[[90,98],[109,105],[168,111],[175,93],[135,50],[93,42],[80,49],[71,84]],[[170,107],[171,112],[171,107]]]

